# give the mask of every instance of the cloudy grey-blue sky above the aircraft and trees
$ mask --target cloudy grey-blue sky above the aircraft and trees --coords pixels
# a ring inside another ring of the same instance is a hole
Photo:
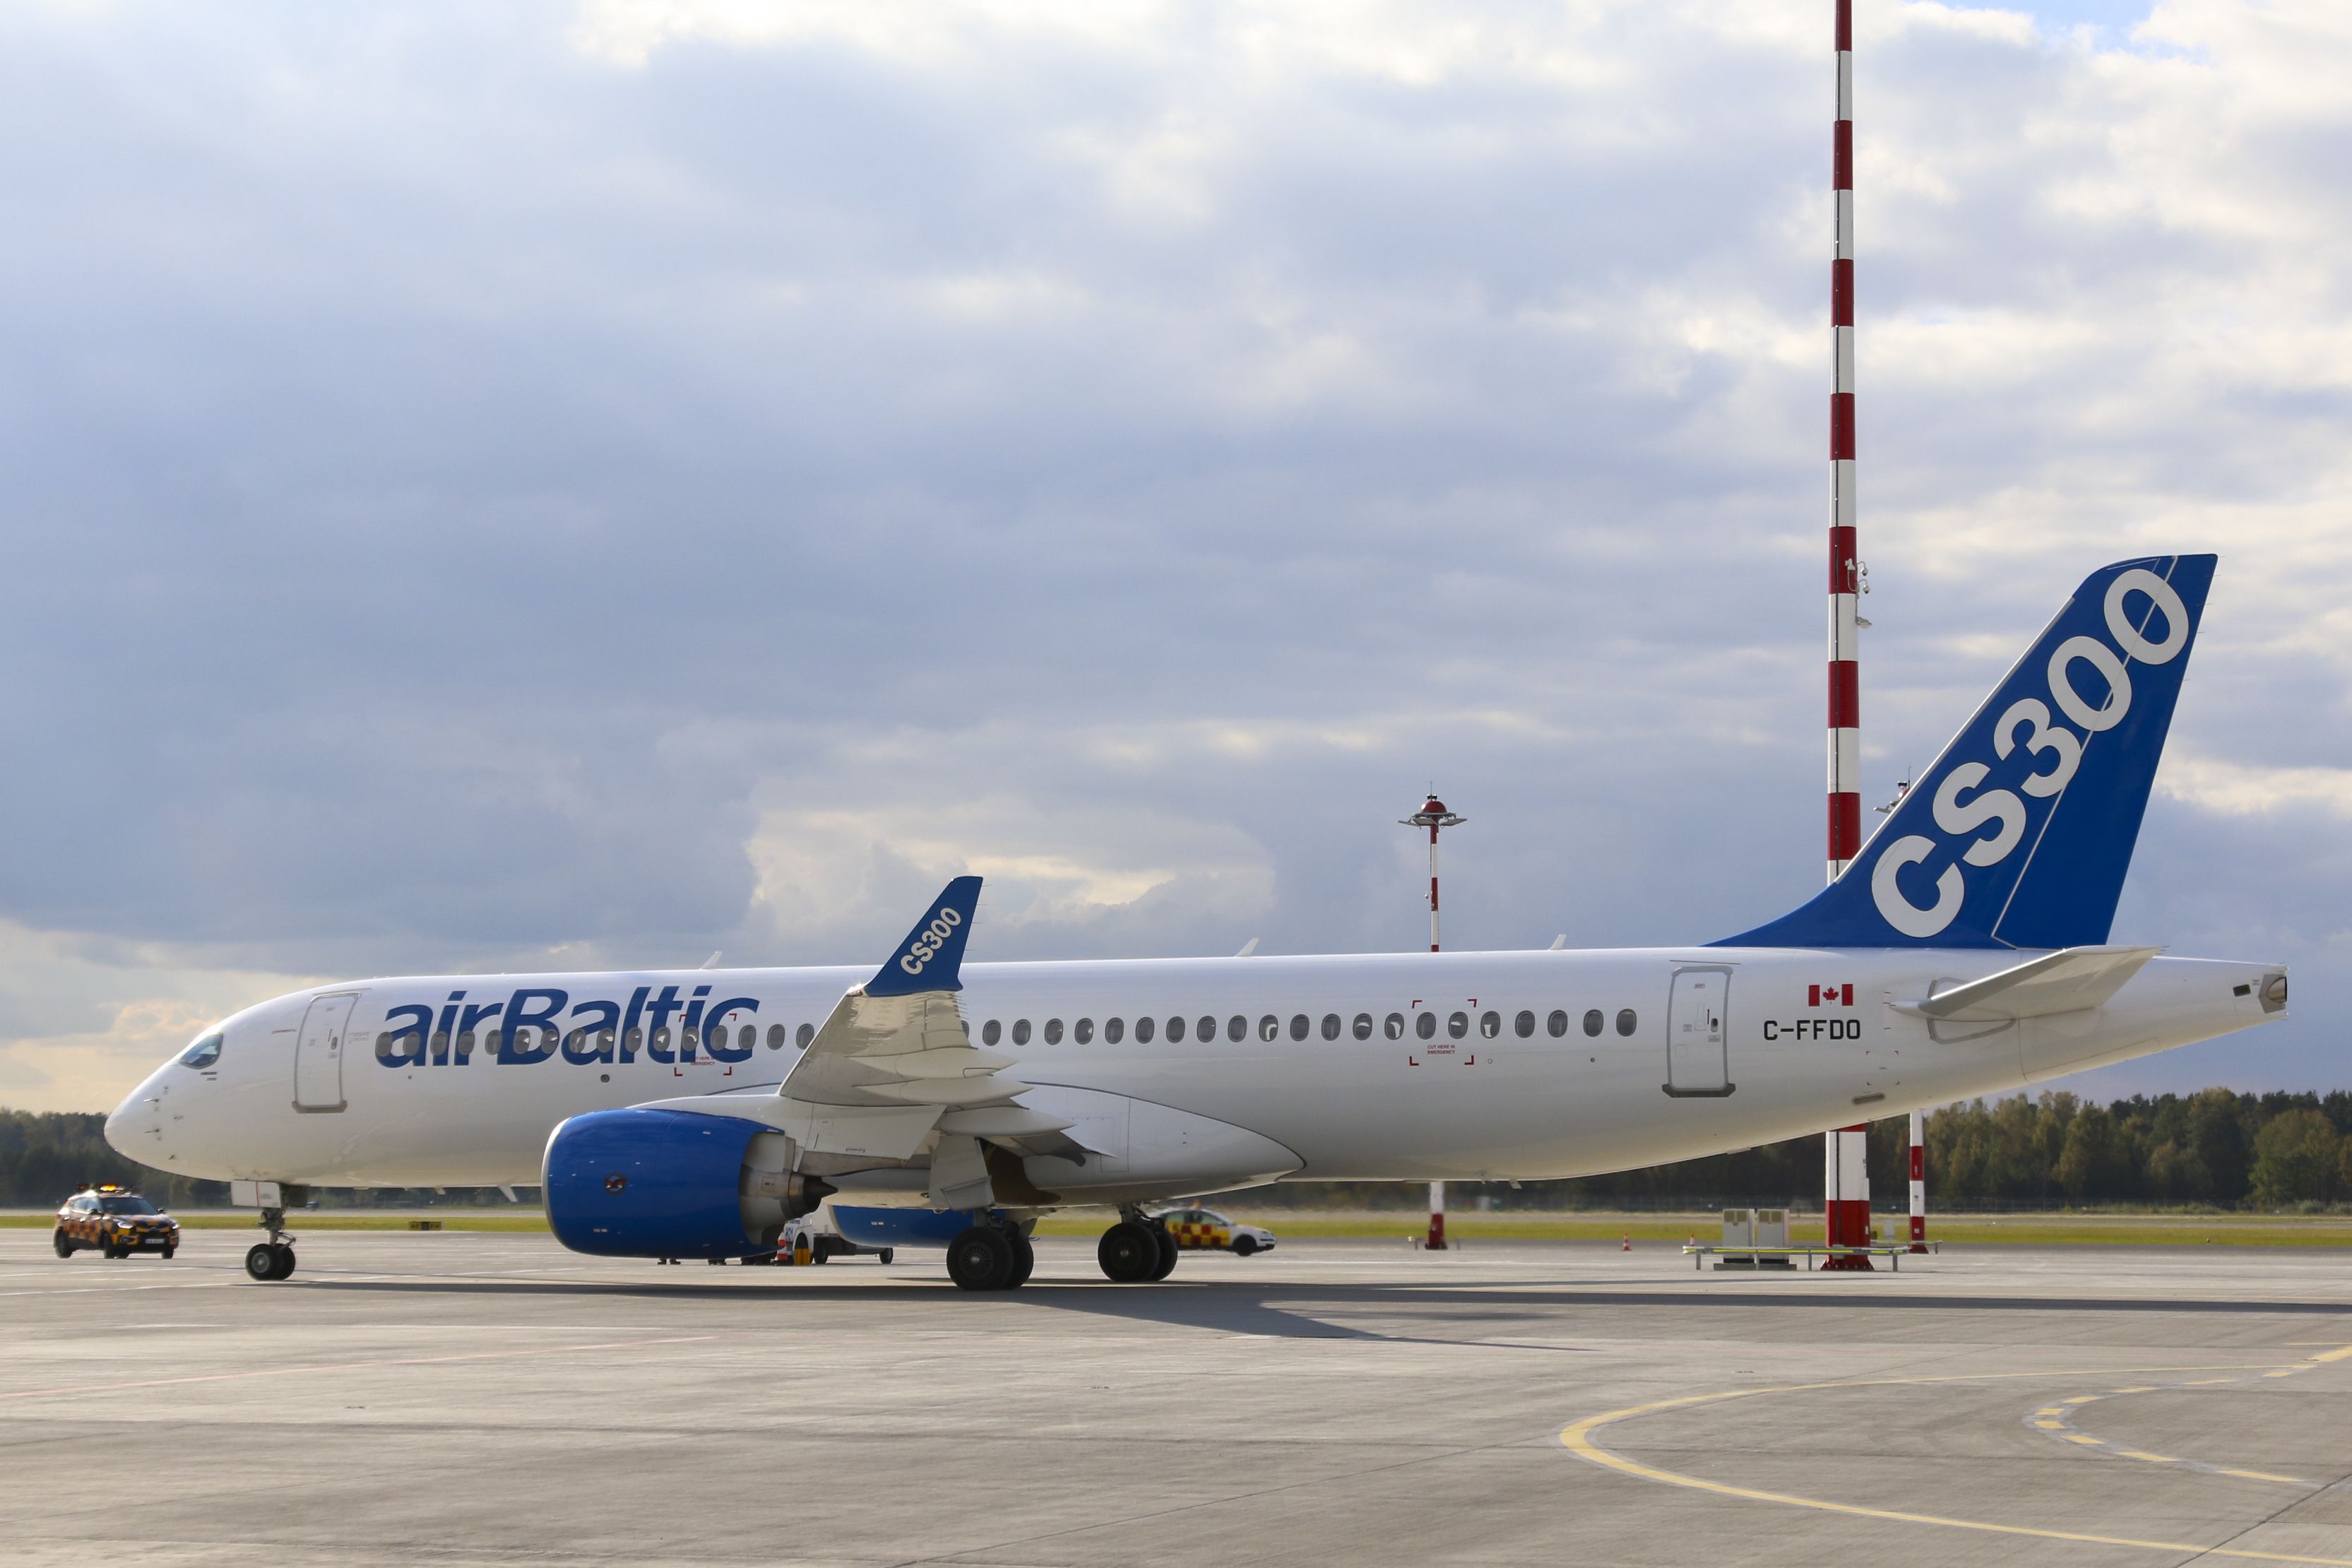
[[[0,1103],[315,978],[1820,877],[1828,0],[0,9]],[[1863,0],[1867,792],[2223,552],[2117,940],[2352,1086],[2352,9]]]

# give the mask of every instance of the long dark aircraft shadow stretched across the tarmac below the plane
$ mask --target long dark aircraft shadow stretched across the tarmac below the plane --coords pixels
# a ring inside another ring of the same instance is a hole
[[[630,1300],[713,1300],[715,1291],[699,1284],[614,1284],[576,1281],[557,1284],[541,1279],[334,1279],[310,1276],[310,1291],[395,1293],[395,1295],[621,1295]],[[717,1286],[717,1281],[713,1281]],[[285,1286],[278,1286],[285,1288]],[[901,1291],[953,1291],[941,1279],[910,1272],[908,1279],[882,1286],[884,1293]],[[771,1300],[786,1307],[795,1300],[809,1302],[858,1302],[882,1305],[875,1286],[818,1286],[818,1284],[734,1284],[722,1286],[724,1300]],[[1049,1307],[1056,1312],[1082,1312],[1094,1316],[1129,1319],[1138,1324],[1169,1324],[1176,1328],[1204,1328],[1216,1333],[1249,1333],[1282,1340],[1392,1340],[1414,1342],[1418,1335],[1378,1333],[1352,1328],[1315,1316],[1317,1312],[1374,1312],[1399,1316],[1425,1316],[1444,1312],[1449,1326],[1475,1321],[1524,1324],[1538,1312],[1562,1307],[1646,1307],[1646,1309],[1785,1309],[1785,1312],[2190,1312],[2190,1314],[2312,1314],[2347,1316],[2347,1302],[2296,1302],[2296,1300],[2147,1300],[2147,1298],[2044,1298],[2044,1295],[1783,1295],[1783,1293],[1703,1293],[1703,1291],[1595,1291],[1573,1286],[1510,1286],[1510,1288],[1446,1288],[1425,1284],[1247,1284],[1247,1281],[1167,1281],[1157,1286],[1115,1284],[1056,1284],[1033,1279],[1018,1293],[981,1298],[971,1302]],[[1437,1340],[1430,1340],[1437,1342]],[[1461,1345],[1463,1340],[1444,1340]],[[1573,1349],[1573,1347],[1545,1347]]]

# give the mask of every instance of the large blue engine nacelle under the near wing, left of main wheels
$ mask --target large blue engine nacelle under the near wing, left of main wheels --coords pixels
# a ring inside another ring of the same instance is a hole
[[[830,1187],[793,1175],[790,1140],[757,1121],[593,1110],[548,1138],[555,1239],[602,1258],[748,1258]]]

